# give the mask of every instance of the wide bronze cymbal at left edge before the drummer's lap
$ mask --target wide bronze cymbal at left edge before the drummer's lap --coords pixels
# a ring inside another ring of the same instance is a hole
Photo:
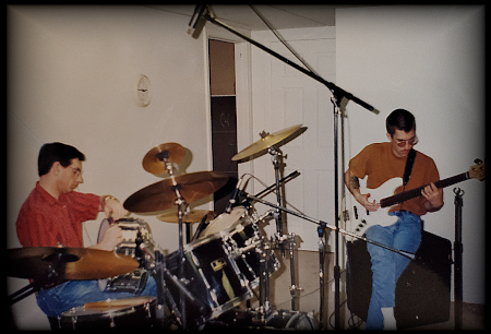
[[[91,248],[26,247],[7,250],[7,275],[41,278],[59,259],[61,279],[101,279],[123,275],[139,267],[131,257]]]

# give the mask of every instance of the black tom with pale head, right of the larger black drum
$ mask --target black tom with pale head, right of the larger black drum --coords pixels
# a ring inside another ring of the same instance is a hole
[[[227,246],[239,271],[246,276],[252,288],[259,285],[261,259],[267,262],[270,275],[279,269],[279,261],[273,250],[267,252],[263,248],[263,236],[246,207],[236,206],[229,214],[220,214],[209,223],[203,232],[203,237],[216,234]]]

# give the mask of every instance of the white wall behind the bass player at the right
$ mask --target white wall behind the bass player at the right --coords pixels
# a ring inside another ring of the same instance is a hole
[[[371,7],[336,11],[337,84],[381,110],[349,103],[348,158],[385,141],[385,118],[411,111],[420,143],[441,178],[484,159],[484,8]],[[454,241],[454,193],[463,207],[464,301],[484,303],[484,187],[468,180],[444,190],[444,207],[426,229]]]

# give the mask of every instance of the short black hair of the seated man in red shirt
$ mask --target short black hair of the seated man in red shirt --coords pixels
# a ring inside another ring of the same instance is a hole
[[[81,162],[85,160],[85,155],[73,146],[62,143],[44,144],[39,150],[37,158],[37,172],[44,176],[49,172],[52,164],[60,163],[61,166],[68,167],[72,159],[77,158]]]

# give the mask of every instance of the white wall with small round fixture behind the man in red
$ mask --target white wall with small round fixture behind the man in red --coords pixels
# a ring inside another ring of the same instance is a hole
[[[144,7],[8,7],[8,248],[20,247],[15,219],[38,179],[44,143],[60,141],[86,155],[81,192],[121,201],[161,180],[142,167],[158,144],[189,151],[180,172],[211,169],[207,46],[203,35],[185,34],[188,22]],[[140,74],[152,82],[144,108],[134,100]],[[136,217],[161,248],[177,249],[177,224]],[[86,246],[96,242],[101,219],[85,224]],[[8,283],[13,293],[28,282]],[[34,296],[13,312],[21,329],[49,327]]]

